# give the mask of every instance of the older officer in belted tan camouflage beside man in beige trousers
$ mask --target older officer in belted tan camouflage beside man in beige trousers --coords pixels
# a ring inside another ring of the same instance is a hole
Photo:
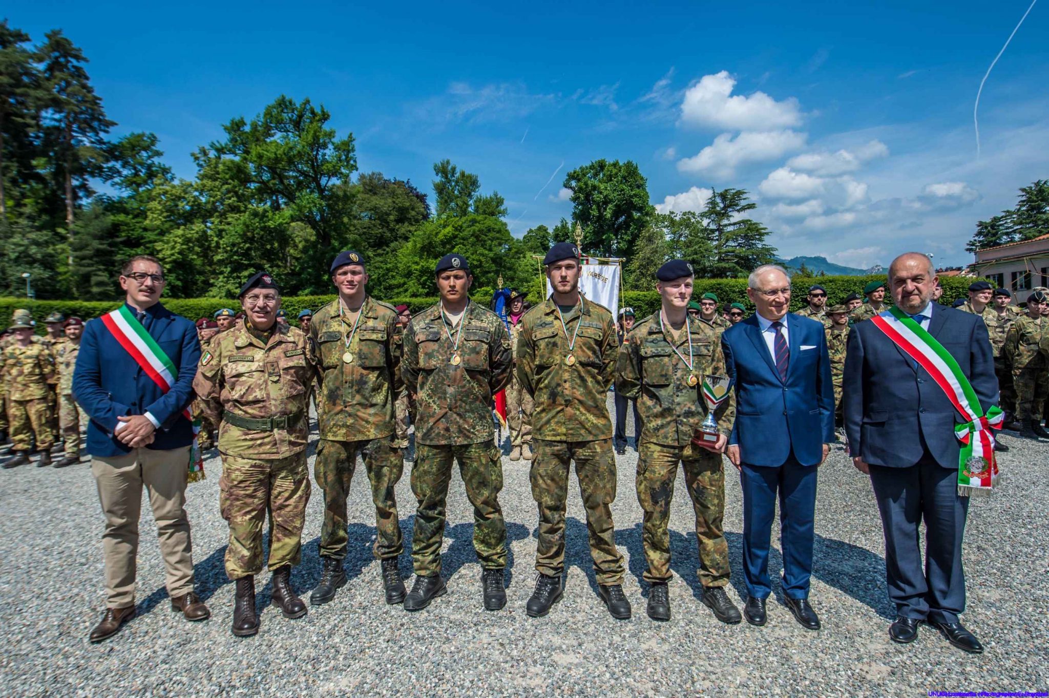
[[[237,584],[232,630],[248,636],[259,628],[255,575],[262,571],[266,511],[273,603],[287,618],[306,614],[291,574],[309,501],[306,410],[317,356],[298,328],[276,322],[280,289],[269,274],[249,279],[239,298],[247,318],[204,350],[193,390],[205,420],[218,427],[219,508],[230,524],[226,573]]]

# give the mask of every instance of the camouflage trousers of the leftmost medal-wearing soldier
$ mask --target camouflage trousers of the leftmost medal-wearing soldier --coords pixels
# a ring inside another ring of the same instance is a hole
[[[404,472],[404,459],[393,448],[392,436],[362,441],[321,439],[318,443],[314,478],[324,492],[321,557],[336,560],[346,557],[349,544],[346,497],[357,470],[358,454],[364,460],[371,484],[371,501],[376,505],[376,544],[372,552],[379,560],[397,558],[403,547],[393,488]]]

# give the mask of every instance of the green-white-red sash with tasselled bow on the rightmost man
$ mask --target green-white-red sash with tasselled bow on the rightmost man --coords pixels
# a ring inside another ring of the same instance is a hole
[[[963,422],[955,426],[955,436],[962,442],[958,494],[962,497],[990,494],[998,482],[993,430],[1002,429],[1005,414],[997,407],[984,414],[972,385],[955,357],[905,312],[893,307],[871,321],[925,369],[961,415]]]

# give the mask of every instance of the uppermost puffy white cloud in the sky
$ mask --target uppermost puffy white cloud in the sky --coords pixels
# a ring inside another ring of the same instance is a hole
[[[801,123],[796,99],[776,102],[761,91],[733,96],[734,87],[735,80],[726,70],[704,75],[685,90],[682,123],[734,131],[785,129]]]

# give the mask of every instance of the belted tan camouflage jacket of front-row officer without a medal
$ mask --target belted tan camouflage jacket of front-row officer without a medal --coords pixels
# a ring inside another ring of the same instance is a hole
[[[218,450],[247,458],[286,458],[306,448],[309,436],[309,384],[317,356],[306,335],[276,325],[266,344],[248,331],[244,321],[215,335],[200,354],[193,378],[196,407],[218,428]],[[283,428],[244,429],[222,419],[293,417]]]

